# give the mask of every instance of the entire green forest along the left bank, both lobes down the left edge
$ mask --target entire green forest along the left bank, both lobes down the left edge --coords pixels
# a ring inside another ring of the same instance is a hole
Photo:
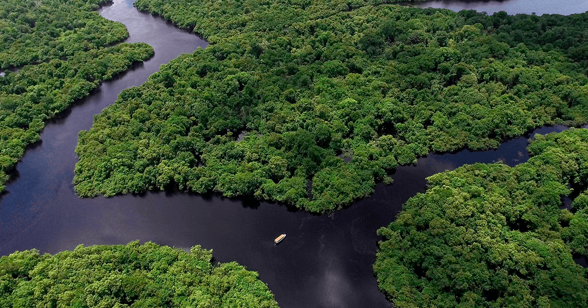
[[[94,11],[102,0],[0,2],[0,191],[45,121],[87,96],[102,80],[153,54],[120,22]]]

